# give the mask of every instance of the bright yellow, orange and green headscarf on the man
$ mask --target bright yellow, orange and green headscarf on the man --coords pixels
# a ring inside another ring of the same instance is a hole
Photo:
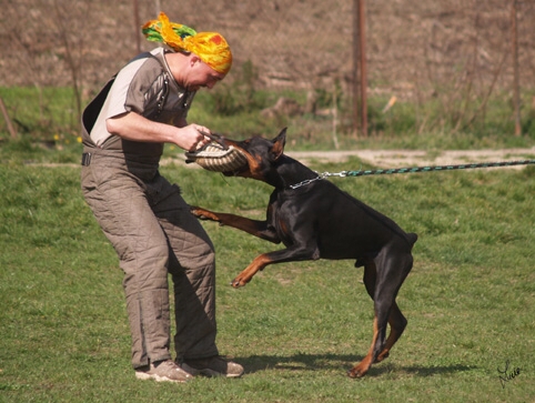
[[[163,42],[176,52],[195,53],[219,73],[226,74],[231,69],[231,48],[218,32],[196,32],[192,28],[169,21],[163,12],[160,12],[158,20],[145,22],[141,30],[149,41]]]

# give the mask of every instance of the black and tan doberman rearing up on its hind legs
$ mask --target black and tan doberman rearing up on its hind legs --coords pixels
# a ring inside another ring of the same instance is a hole
[[[224,139],[246,155],[248,163],[225,175],[251,178],[274,188],[266,220],[219,213],[192,206],[201,220],[216,221],[285,249],[262,253],[233,281],[245,285],[269,264],[317,259],[355,259],[364,266],[364,284],[374,301],[372,345],[367,355],[347,371],[351,377],[366,374],[372,363],[388,356],[406,326],[395,298],[413,265],[414,233],[362,203],[299,161],[284,154],[285,129],[272,141],[254,137],[244,141]],[[391,332],[386,337],[386,324]]]

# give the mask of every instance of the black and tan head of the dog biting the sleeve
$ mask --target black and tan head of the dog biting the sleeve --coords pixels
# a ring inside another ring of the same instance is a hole
[[[243,141],[223,139],[226,147],[233,147],[245,157],[246,163],[232,171],[223,171],[226,177],[251,178],[266,182],[273,167],[284,153],[286,143],[286,128],[276,138],[268,140],[262,137],[252,137]]]

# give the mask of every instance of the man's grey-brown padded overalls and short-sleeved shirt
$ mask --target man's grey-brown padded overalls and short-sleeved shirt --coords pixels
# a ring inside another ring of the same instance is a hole
[[[176,360],[218,355],[218,349],[214,249],[180,188],[159,173],[163,144],[108,133],[101,144],[93,141],[93,134],[102,138],[97,133],[105,123],[102,112],[113,108],[107,107],[114,100],[110,94],[124,75],[127,111],[165,123],[185,118],[193,94],[176,84],[163,52],[144,53],[134,61],[135,71],[123,77],[120,72],[83,112],[81,184],[124,272],[135,369],[171,359],[169,273],[174,284]]]

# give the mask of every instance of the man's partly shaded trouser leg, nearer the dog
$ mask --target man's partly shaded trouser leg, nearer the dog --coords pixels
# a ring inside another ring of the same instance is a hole
[[[176,185],[163,184],[154,204],[170,245],[174,284],[176,360],[218,355],[213,244]]]

